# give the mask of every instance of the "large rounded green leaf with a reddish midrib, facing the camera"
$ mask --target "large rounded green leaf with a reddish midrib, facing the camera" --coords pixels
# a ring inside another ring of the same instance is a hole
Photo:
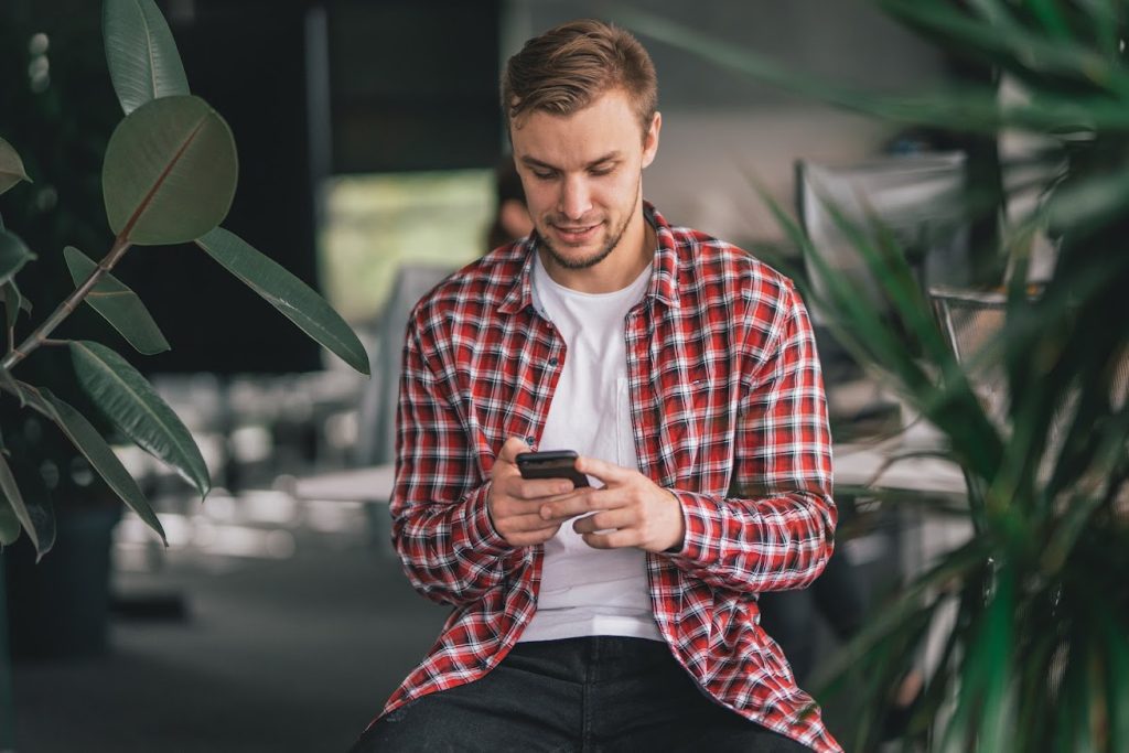
[[[227,217],[237,178],[235,140],[219,113],[199,97],[152,99],[110,138],[110,227],[142,246],[193,240]]]

